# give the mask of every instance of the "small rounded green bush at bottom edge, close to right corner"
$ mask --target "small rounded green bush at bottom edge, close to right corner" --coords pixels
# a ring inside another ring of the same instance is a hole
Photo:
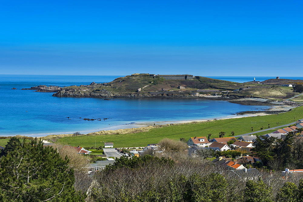
[[[276,196],[277,201],[289,201],[296,202],[299,201],[299,190],[297,185],[292,182],[286,182],[283,187],[280,188]]]

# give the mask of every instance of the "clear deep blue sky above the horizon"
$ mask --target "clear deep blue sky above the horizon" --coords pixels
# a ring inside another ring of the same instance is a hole
[[[0,74],[302,76],[303,1],[2,1]]]

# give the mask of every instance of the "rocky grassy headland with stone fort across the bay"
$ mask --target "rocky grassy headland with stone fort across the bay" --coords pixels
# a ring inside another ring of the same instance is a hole
[[[40,85],[23,90],[55,92],[55,97],[90,98],[204,98],[237,100],[239,98],[267,98],[284,100],[295,96],[292,86],[303,80],[268,79],[237,83],[193,75],[132,74],[108,83],[72,85],[68,87]],[[256,104],[256,103],[255,103]],[[263,104],[261,105],[273,105]]]

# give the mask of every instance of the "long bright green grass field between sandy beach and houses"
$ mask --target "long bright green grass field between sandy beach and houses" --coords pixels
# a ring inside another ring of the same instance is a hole
[[[80,145],[81,147],[95,147],[95,142],[97,147],[104,146],[103,141],[114,142],[114,147],[143,147],[147,146],[147,144],[158,143],[165,137],[175,140],[184,137],[188,140],[190,137],[207,137],[208,134],[212,134],[211,138],[214,138],[219,137],[220,131],[226,132],[226,137],[230,137],[231,131],[234,131],[235,135],[241,135],[251,132],[251,127],[253,127],[254,131],[258,131],[261,126],[264,126],[264,129],[266,129],[268,128],[268,124],[270,124],[270,127],[275,127],[297,121],[301,118],[303,118],[303,107],[297,107],[289,112],[281,114],[225,119],[198,124],[175,125],[154,128],[148,132],[132,134],[63,137],[58,141],[73,146]],[[258,135],[270,132],[273,131],[259,133]]]

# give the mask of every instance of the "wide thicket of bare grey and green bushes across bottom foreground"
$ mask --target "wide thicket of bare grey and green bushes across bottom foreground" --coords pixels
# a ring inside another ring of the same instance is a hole
[[[199,158],[123,157],[95,177],[89,201],[302,201],[303,196],[301,176],[226,171]]]

